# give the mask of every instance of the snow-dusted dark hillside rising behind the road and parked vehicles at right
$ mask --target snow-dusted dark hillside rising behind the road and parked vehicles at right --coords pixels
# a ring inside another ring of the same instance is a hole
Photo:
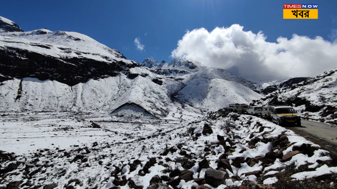
[[[302,117],[337,124],[337,69],[288,85],[255,102],[255,105],[286,103]]]

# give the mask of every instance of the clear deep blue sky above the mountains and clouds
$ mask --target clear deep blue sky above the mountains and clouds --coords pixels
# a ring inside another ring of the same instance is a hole
[[[318,3],[318,19],[283,20],[286,3]],[[239,24],[244,31],[263,31],[269,42],[279,36],[291,38],[294,33],[332,41],[337,29],[336,0],[2,0],[0,15],[25,31],[45,27],[88,35],[137,62],[150,57],[172,60],[171,52],[185,31],[202,27],[212,31]],[[135,38],[143,50],[136,49]]]

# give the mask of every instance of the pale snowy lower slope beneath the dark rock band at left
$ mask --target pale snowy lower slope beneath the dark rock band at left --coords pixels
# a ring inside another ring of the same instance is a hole
[[[132,69],[131,69],[132,71]],[[180,83],[162,78],[162,85],[147,77],[129,79],[122,74],[115,77],[90,79],[86,83],[69,86],[58,81],[23,78],[0,84],[0,111],[83,111],[111,113],[125,103],[135,103],[155,116],[165,116],[175,103],[170,94]]]

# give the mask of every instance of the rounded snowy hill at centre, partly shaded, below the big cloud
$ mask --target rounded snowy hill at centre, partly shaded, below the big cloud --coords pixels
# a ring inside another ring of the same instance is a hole
[[[251,89],[252,82],[223,69],[204,69],[183,78],[186,86],[177,93],[178,99],[210,111],[263,97]]]

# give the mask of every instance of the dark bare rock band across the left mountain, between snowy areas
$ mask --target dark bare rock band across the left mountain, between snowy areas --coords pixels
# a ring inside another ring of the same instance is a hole
[[[0,62],[0,74],[7,77],[50,79],[70,86],[91,78],[114,77],[123,70],[140,66],[135,62],[130,65],[114,60],[106,63],[87,58],[55,58],[12,47],[0,48]]]

